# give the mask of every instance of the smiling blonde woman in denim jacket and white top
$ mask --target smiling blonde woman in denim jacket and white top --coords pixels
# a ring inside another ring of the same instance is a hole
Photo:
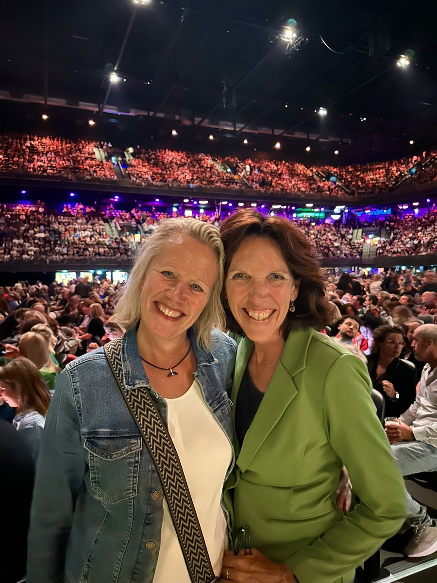
[[[124,382],[148,388],[168,426],[217,576],[230,529],[221,496],[234,459],[226,389],[236,352],[214,329],[224,326],[222,284],[216,227],[168,219],[140,248],[115,312],[126,330]],[[38,458],[27,581],[190,582],[157,469],[102,347],[58,377]]]

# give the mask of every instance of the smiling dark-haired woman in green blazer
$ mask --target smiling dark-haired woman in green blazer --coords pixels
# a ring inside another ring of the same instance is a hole
[[[245,335],[231,395],[236,471],[225,487],[253,547],[225,553],[222,580],[349,583],[404,517],[365,365],[314,331],[325,287],[291,222],[239,211],[221,237],[228,326]],[[334,494],[343,463],[360,500],[347,517]]]

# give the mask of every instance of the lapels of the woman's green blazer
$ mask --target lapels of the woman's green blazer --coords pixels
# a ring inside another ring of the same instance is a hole
[[[308,352],[312,334],[312,329],[305,329],[291,332],[290,336],[288,336],[272,380],[239,452],[237,465],[241,472],[245,472],[249,467],[259,448],[297,395],[298,391],[293,377],[306,366],[306,353]],[[239,385],[252,350],[253,343],[246,338],[241,341],[238,347],[234,388],[232,389],[231,397],[234,403],[234,417]]]

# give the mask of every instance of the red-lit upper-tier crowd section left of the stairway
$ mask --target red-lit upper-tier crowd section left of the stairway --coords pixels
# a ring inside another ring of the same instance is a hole
[[[0,173],[37,174],[66,180],[117,180],[112,163],[98,160],[95,142],[28,134],[0,135]]]

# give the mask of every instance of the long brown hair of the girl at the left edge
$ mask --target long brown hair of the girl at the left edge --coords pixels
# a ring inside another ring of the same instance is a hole
[[[50,392],[40,371],[29,359],[13,359],[0,367],[0,382],[5,382],[16,396],[21,397],[18,413],[36,411],[43,417],[47,415]]]

